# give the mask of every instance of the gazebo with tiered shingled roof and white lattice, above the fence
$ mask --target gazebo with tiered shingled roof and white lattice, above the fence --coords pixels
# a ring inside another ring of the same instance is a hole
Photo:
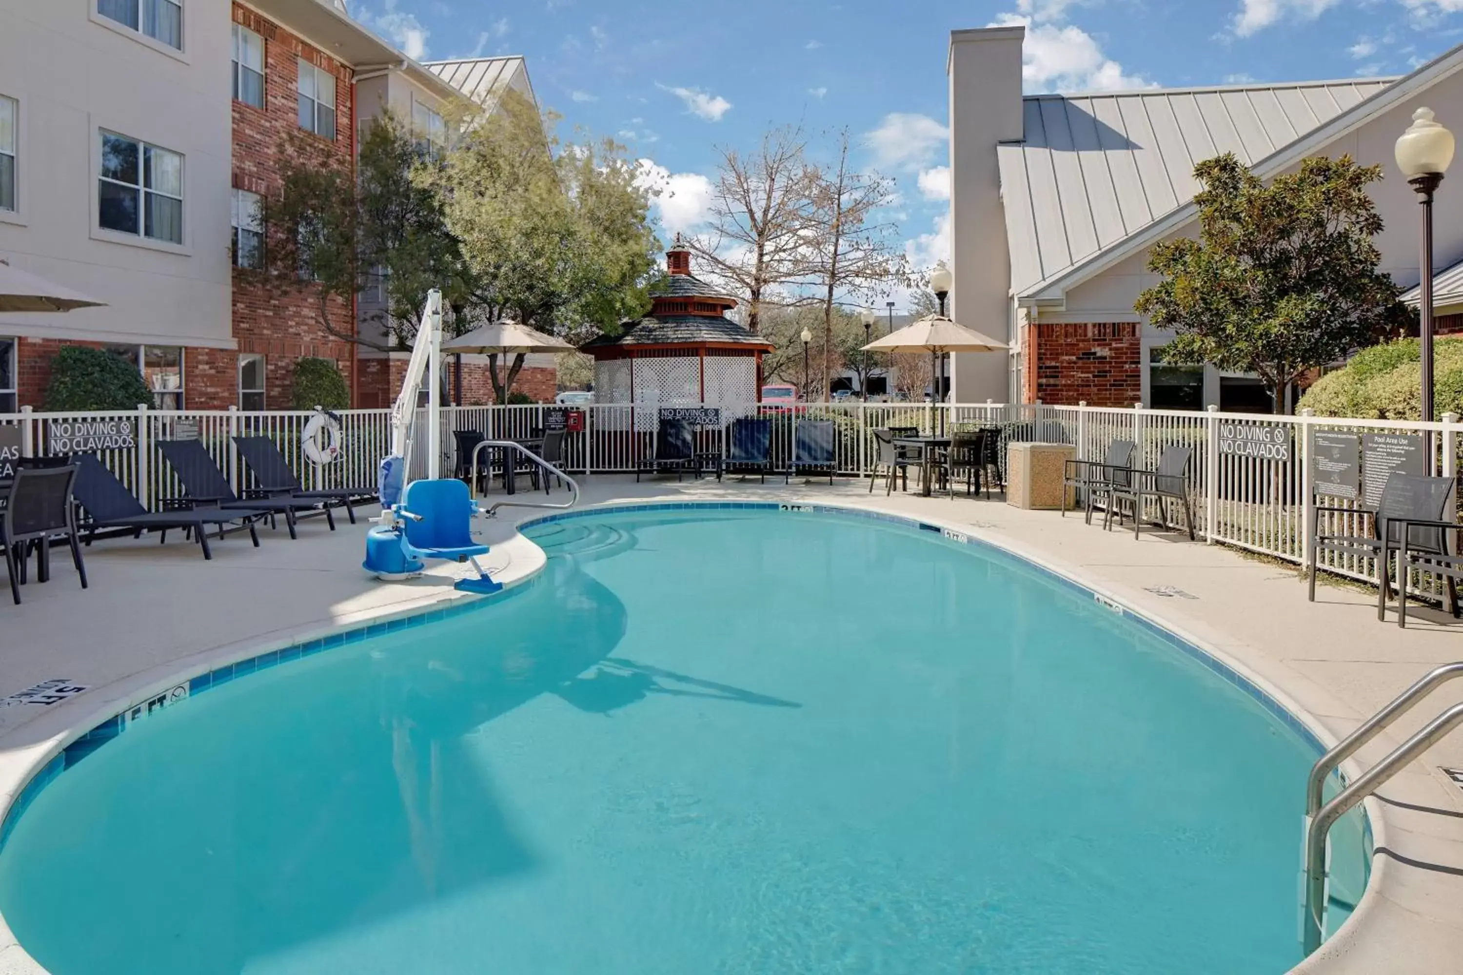
[[[582,346],[594,357],[595,401],[720,406],[761,399],[771,342],[727,317],[736,298],[691,273],[691,250],[679,235],[666,251],[666,272],[648,316]]]

